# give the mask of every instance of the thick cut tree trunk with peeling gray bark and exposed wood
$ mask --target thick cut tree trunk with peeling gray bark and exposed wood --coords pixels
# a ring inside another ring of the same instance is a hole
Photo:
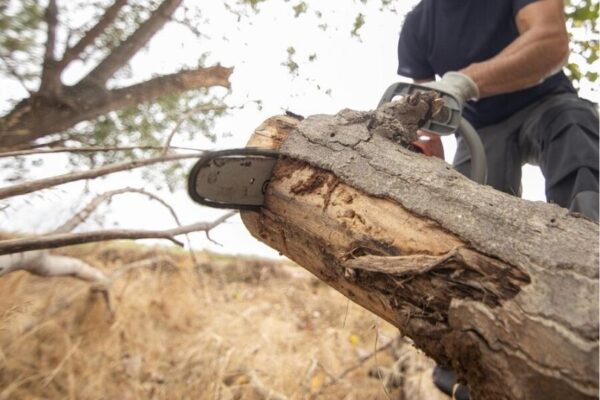
[[[285,156],[246,227],[451,365],[473,399],[597,398],[598,225],[380,133],[350,110],[267,120],[249,145]]]

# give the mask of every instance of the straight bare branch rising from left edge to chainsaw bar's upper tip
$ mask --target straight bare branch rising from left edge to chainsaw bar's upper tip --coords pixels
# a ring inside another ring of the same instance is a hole
[[[167,156],[148,158],[146,160],[135,160],[109,164],[103,167],[91,169],[89,171],[71,172],[68,174],[52,176],[49,178],[42,178],[29,182],[23,182],[16,185],[0,188],[0,200],[8,197],[32,193],[41,189],[47,189],[49,187],[62,185],[64,183],[79,181],[82,179],[95,179],[115,172],[128,171],[152,164],[177,160],[186,160],[196,157],[198,157],[197,154],[173,154]]]

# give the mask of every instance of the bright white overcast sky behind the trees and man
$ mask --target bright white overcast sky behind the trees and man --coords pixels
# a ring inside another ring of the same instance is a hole
[[[298,114],[335,113],[342,108],[368,110],[376,106],[387,86],[399,80],[396,76],[396,44],[403,16],[416,1],[397,1],[395,12],[381,12],[378,1],[367,5],[360,1],[344,2],[346,8],[337,8],[341,2],[306,1],[308,10],[295,18],[291,3],[269,1],[252,18],[237,21],[221,2],[203,2],[203,18],[199,21],[210,38],[198,40],[185,28],[167,25],[150,43],[147,51],[132,60],[131,80],[140,81],[155,74],[171,73],[182,65],[193,65],[198,56],[210,52],[207,65],[220,62],[235,67],[231,76],[232,91],[227,99],[232,106],[250,100],[261,100],[262,109],[249,106],[232,112],[216,126],[220,139],[216,143],[197,140],[189,143],[181,134],[174,145],[193,145],[199,148],[231,148],[245,145],[250,134],[268,117],[291,110]],[[322,13],[319,18],[316,9]],[[365,15],[360,38],[351,36],[354,18]],[[327,24],[325,28],[323,24]],[[299,64],[297,74],[282,65],[287,49],[294,47],[294,61]],[[313,61],[309,61],[316,55]],[[76,80],[81,71],[77,66],[66,76]],[[4,84],[4,82],[3,82]],[[4,86],[0,100],[18,93],[16,86]],[[589,93],[589,91],[588,91]],[[590,94],[588,94],[588,97]],[[6,103],[1,107],[5,109]],[[446,157],[452,159],[454,139],[444,140]],[[64,171],[64,159],[46,157],[41,174]],[[54,161],[53,161],[54,160]],[[43,197],[19,198],[11,202],[10,218],[0,219],[0,229],[47,231],[81,207],[83,184],[63,185],[44,192]],[[109,179],[89,183],[92,193],[124,186],[143,187],[137,174],[121,173]],[[524,170],[524,197],[545,200],[544,183],[537,168]],[[182,191],[161,193],[180,214],[184,223],[216,218],[222,211],[210,210],[194,204]],[[136,229],[164,229],[173,226],[169,213],[157,204],[135,195],[115,198],[104,220],[106,227],[120,226]],[[91,221],[86,229],[98,227]],[[202,234],[192,235],[194,247],[241,254],[277,256],[277,253],[251,238],[239,218],[216,229],[211,235],[223,247],[216,246]]]

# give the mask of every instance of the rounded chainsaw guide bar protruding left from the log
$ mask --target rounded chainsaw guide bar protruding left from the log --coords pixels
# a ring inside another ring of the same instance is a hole
[[[209,207],[258,211],[278,159],[276,150],[253,147],[209,152],[192,168],[188,193]]]

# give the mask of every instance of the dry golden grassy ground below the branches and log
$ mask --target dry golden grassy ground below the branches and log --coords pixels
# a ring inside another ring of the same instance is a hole
[[[0,399],[447,399],[407,339],[290,263],[61,254],[114,282],[0,277]]]

